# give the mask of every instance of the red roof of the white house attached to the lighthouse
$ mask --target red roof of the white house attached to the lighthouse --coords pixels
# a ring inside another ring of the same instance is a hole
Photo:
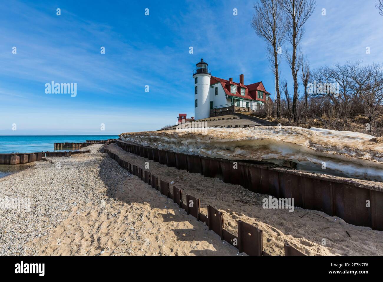
[[[222,78],[216,78],[215,76],[212,76],[210,78],[210,85],[213,85],[216,83],[221,83],[225,93],[228,96],[241,97],[241,98],[248,99],[248,100],[265,101],[265,97],[264,97],[264,99],[257,98],[257,91],[256,90],[266,92],[267,94],[270,95],[270,93],[266,91],[262,81],[257,82],[257,83],[253,83],[253,84],[249,84],[249,85],[244,85],[241,83],[229,81],[229,80],[222,79]],[[235,93],[230,92],[231,85],[237,85],[237,89],[236,89]],[[241,95],[241,87],[245,88],[245,96]]]

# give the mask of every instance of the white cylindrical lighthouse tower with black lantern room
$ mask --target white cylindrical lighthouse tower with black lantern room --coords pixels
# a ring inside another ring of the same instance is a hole
[[[210,117],[210,78],[211,73],[208,69],[208,64],[201,59],[196,64],[197,68],[193,71],[194,88],[195,88],[195,106],[194,106],[194,119],[206,119]]]

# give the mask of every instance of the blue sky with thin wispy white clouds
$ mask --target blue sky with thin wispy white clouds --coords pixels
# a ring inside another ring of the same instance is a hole
[[[265,43],[250,26],[256,1],[135,2],[2,1],[0,135],[119,134],[175,124],[178,113],[193,115],[191,75],[201,56],[213,76],[239,81],[243,73],[245,84],[262,81],[274,93]],[[383,62],[383,17],[374,5],[318,0],[301,45],[311,66]],[[291,81],[284,61],[280,67]],[[46,94],[52,80],[77,83],[77,96]]]

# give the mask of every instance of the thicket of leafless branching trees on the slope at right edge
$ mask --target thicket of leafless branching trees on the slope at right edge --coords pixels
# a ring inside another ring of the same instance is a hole
[[[364,112],[368,120],[366,129],[372,133],[382,113],[381,68],[380,64],[362,66],[362,61],[355,61],[315,69],[309,78],[314,85],[314,91],[309,93],[309,97],[322,104],[316,113],[311,114],[328,129],[345,130],[352,127],[349,124],[352,114]]]

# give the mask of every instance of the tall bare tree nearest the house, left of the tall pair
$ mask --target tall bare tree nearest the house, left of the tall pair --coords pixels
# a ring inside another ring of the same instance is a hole
[[[285,41],[286,25],[284,23],[281,0],[260,0],[254,5],[255,14],[251,26],[255,33],[267,42],[268,60],[275,76],[277,94],[277,119],[280,118],[280,87],[278,73],[278,55],[282,52]]]

